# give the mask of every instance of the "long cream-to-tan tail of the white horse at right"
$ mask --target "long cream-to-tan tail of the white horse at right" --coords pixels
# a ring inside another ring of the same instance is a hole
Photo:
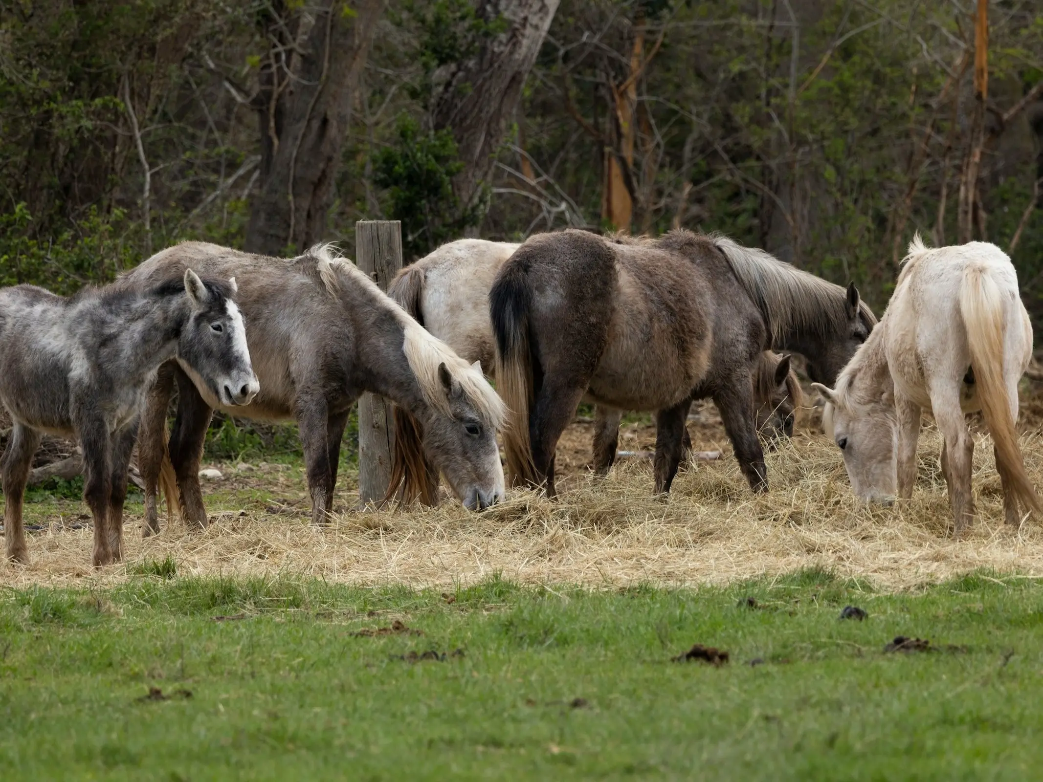
[[[1008,479],[1015,497],[1039,513],[1040,498],[1025,471],[1003,378],[1003,298],[986,269],[973,266],[964,273],[960,313],[981,414],[996,446],[996,469]]]

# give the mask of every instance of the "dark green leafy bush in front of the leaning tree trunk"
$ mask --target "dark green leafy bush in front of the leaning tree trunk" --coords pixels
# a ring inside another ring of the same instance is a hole
[[[387,190],[387,213],[402,220],[407,259],[425,255],[477,225],[478,205],[461,207],[453,175],[463,168],[450,130],[423,132],[409,116],[398,121],[392,146],[373,155],[373,182]]]

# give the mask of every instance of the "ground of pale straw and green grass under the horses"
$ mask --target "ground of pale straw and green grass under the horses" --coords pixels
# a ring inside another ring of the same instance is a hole
[[[345,463],[322,529],[292,448],[211,455],[211,528],[142,540],[131,494],[100,571],[79,487],[34,489],[31,562],[0,566],[0,779],[1038,776],[1043,527],[1001,523],[988,443],[954,541],[929,429],[890,509],[814,431],[767,495],[726,451],[663,499],[645,460],[585,474],[588,430],[556,502],[359,512]],[[631,421],[621,447],[650,444]],[[693,644],[728,661],[674,660]]]

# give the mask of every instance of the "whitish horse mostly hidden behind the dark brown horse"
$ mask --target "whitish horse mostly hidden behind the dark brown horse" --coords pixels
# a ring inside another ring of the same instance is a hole
[[[388,295],[425,328],[467,361],[479,361],[491,374],[495,353],[488,293],[500,268],[520,246],[481,239],[450,242],[399,271]],[[769,447],[775,447],[780,436],[792,436],[794,410],[802,398],[789,357],[766,351],[755,364],[754,390],[757,431]],[[615,459],[622,411],[598,406],[596,415],[593,469],[605,474]],[[403,453],[418,450],[419,443],[410,438],[414,431],[408,424],[396,430],[395,442]],[[684,449],[690,450],[686,429],[682,435]],[[434,502],[437,472],[429,470],[429,474],[433,483],[421,496]]]

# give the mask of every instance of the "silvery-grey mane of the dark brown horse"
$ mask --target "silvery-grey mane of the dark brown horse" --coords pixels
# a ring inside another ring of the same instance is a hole
[[[668,237],[682,233],[690,235],[674,230]],[[818,334],[847,329],[847,294],[841,286],[779,261],[765,250],[744,247],[723,234],[710,234],[707,239],[721,250],[743,288],[765,314],[773,342],[781,341],[792,328]],[[876,316],[865,301],[858,301],[858,311],[867,325],[876,325]]]

